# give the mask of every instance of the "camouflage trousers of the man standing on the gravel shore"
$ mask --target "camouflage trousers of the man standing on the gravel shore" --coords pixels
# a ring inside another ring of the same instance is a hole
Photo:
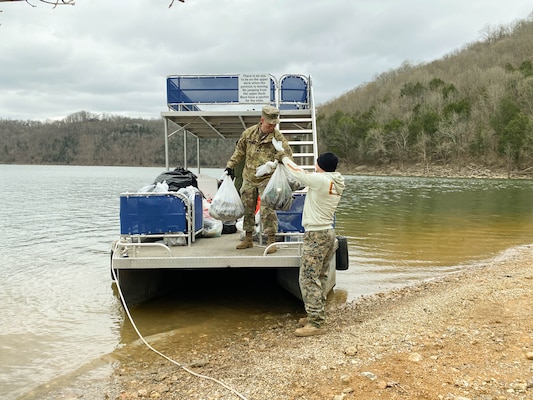
[[[320,327],[326,321],[326,283],[329,263],[335,252],[335,229],[304,233],[300,290],[310,324]]]

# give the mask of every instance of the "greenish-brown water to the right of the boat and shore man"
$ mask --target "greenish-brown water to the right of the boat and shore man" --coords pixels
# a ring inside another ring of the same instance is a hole
[[[530,180],[348,177],[347,183],[337,228],[349,238],[350,272],[339,283],[350,298],[532,243]]]

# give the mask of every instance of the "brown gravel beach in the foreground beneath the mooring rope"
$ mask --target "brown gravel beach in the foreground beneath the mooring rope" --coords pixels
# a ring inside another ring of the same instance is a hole
[[[176,365],[134,343],[45,399],[533,398],[533,245],[416,286],[328,308],[328,332],[293,335],[302,315],[262,321],[187,346],[148,338]],[[131,357],[128,348],[137,348]],[[140,351],[139,351],[140,350]],[[92,383],[87,383],[92,382]],[[31,398],[27,397],[27,398]]]

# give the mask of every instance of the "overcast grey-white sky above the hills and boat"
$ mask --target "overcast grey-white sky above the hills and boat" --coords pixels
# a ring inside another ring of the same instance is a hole
[[[158,118],[172,74],[310,75],[320,104],[533,11],[531,0],[29,1],[0,2],[0,119]]]

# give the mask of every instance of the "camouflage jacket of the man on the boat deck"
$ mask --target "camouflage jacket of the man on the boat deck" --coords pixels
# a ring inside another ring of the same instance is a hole
[[[270,179],[272,174],[255,176],[256,168],[266,163],[267,161],[274,161],[276,158],[276,149],[272,144],[272,138],[280,140],[287,154],[292,159],[292,150],[285,139],[285,136],[277,130],[266,135],[262,140],[259,137],[261,123],[251,126],[246,129],[237,142],[235,151],[226,164],[226,168],[234,169],[241,160],[245,160],[244,169],[242,171],[242,178],[252,184],[258,185],[265,180]]]

